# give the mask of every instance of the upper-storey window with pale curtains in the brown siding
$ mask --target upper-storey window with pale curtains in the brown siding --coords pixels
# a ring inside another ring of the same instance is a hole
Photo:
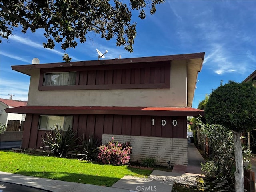
[[[75,85],[76,72],[44,73],[44,86]]]

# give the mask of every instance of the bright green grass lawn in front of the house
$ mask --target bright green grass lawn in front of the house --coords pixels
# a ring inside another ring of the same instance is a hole
[[[148,177],[152,171],[80,161],[0,151],[0,170],[41,178],[111,186],[125,175]]]

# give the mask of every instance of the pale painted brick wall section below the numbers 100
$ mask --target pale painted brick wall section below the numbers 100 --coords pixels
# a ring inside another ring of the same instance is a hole
[[[167,166],[168,161],[172,165],[188,165],[187,139],[103,134],[102,144],[109,142],[112,137],[118,142],[130,142],[131,162],[141,162],[146,157],[154,157],[158,165]]]

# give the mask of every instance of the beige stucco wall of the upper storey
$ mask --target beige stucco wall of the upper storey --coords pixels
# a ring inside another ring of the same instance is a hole
[[[28,106],[187,106],[186,61],[171,64],[170,89],[39,91],[40,70],[31,74]]]

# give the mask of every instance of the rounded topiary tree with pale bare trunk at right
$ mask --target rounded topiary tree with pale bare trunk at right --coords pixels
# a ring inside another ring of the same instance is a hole
[[[207,122],[232,130],[236,161],[236,192],[244,190],[241,133],[255,128],[256,88],[252,83],[220,85],[212,92],[205,108]]]

